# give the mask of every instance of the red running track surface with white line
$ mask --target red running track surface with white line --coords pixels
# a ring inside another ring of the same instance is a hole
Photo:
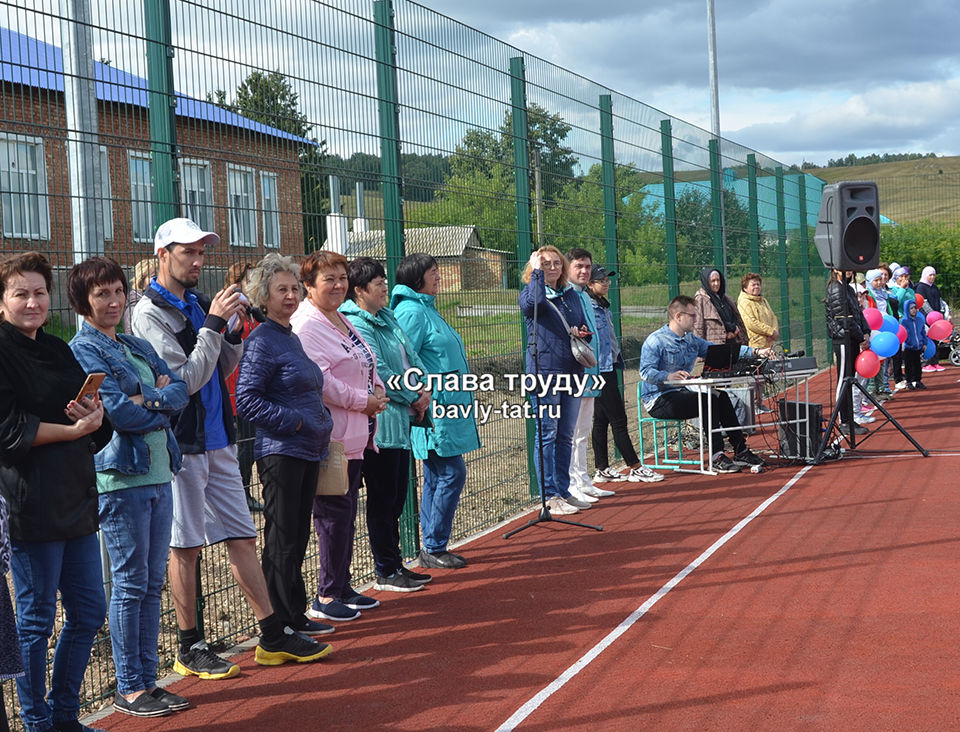
[[[958,729],[958,376],[888,403],[929,458],[886,425],[820,466],[621,484],[574,517],[602,533],[504,528],[426,590],[376,593],[327,660],[263,668],[247,651],[238,678],[175,683],[185,712],[98,724]]]

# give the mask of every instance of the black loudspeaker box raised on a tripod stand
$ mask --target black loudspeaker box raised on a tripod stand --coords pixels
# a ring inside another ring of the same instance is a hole
[[[823,265],[864,272],[880,263],[880,207],[873,181],[831,183],[823,189],[814,237]]]

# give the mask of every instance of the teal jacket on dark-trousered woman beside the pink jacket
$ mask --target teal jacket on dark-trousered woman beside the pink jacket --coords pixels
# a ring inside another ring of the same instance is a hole
[[[377,447],[409,450],[410,420],[413,418],[410,405],[417,401],[420,395],[402,387],[399,390],[391,389],[389,379],[396,374],[403,375],[405,369],[402,354],[404,352],[411,367],[425,371],[423,363],[410,347],[407,337],[389,308],[383,308],[373,315],[359,307],[353,300],[346,300],[340,306],[340,312],[347,316],[353,327],[376,354],[377,374],[386,386],[387,396],[390,397],[387,408],[377,417]]]

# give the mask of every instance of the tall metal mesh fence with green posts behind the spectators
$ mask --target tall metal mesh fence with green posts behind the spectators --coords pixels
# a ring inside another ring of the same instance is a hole
[[[734,296],[742,274],[760,273],[784,346],[826,359],[821,180],[415,3],[3,2],[0,26],[0,250],[48,255],[50,329],[65,339],[77,324],[69,267],[105,252],[132,272],[156,225],[184,215],[223,239],[208,252],[207,292],[271,250],[327,243],[391,275],[402,253],[432,254],[437,306],[474,373],[496,377],[477,395],[494,407],[522,405],[502,377],[523,368],[519,275],[540,244],[585,248],[617,271],[633,429],[640,345],[704,266],[724,269]],[[455,540],[531,503],[529,430],[503,415],[480,426]],[[251,490],[259,497],[255,472]],[[360,522],[358,584],[373,576]],[[408,556],[416,524],[410,505]],[[201,566],[208,640],[255,632],[224,548],[204,550]],[[309,586],[315,547],[305,569]],[[166,665],[169,597],[161,623]],[[85,708],[109,698],[112,673],[105,628]]]

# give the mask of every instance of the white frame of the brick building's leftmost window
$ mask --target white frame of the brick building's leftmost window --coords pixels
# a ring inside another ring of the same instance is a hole
[[[12,145],[16,151],[16,145],[26,144],[36,148],[37,169],[18,172],[19,183],[23,183],[23,176],[33,176],[35,181],[35,190],[30,186],[22,186],[14,191],[10,187],[14,172],[9,169],[0,169],[0,229],[3,236],[8,239],[35,239],[42,241],[50,240],[50,199],[47,195],[47,159],[46,151],[43,146],[42,137],[31,137],[28,135],[15,135],[9,133],[0,133],[0,144],[5,147]],[[9,151],[6,156],[10,160],[13,155]],[[35,210],[30,210],[31,204],[36,203]],[[7,209],[13,209],[8,217]],[[16,219],[16,213],[19,211],[19,221]],[[10,226],[7,226],[8,218]],[[18,230],[23,229],[23,230]]]

